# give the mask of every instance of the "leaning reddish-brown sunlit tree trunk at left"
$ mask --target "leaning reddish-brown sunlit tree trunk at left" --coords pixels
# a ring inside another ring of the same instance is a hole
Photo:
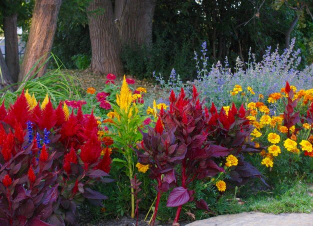
[[[29,37],[18,81],[29,79],[37,70],[35,74],[36,77],[40,77],[44,74],[46,63],[44,65],[42,64],[48,58],[49,51],[52,47],[57,14],[61,2],[62,0],[35,1]]]

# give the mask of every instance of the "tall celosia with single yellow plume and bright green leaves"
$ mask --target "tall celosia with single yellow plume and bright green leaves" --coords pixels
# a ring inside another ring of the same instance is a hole
[[[129,177],[130,186],[134,173],[134,163],[136,162],[135,154],[131,147],[142,139],[142,135],[138,130],[143,124],[145,116],[142,116],[142,104],[135,103],[135,96],[129,89],[125,76],[123,79],[120,93],[116,94],[116,105],[112,104],[113,112],[108,115],[112,117],[111,125],[113,127],[113,146],[123,155],[123,159],[112,159],[113,164],[119,164],[125,168],[126,175]],[[134,217],[134,191],[130,187],[131,193],[131,217]]]

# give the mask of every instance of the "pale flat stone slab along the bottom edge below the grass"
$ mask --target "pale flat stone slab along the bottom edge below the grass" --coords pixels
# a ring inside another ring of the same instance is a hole
[[[313,226],[313,213],[241,212],[196,220],[185,226]]]

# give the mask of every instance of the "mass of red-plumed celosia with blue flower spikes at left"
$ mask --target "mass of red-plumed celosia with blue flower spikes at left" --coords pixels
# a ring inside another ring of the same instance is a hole
[[[0,218],[5,225],[77,224],[78,204],[107,198],[90,188],[110,180],[102,178],[110,157],[100,155],[96,120],[80,107],[74,114],[62,102],[33,106],[28,97],[22,91],[8,109],[0,106]]]

